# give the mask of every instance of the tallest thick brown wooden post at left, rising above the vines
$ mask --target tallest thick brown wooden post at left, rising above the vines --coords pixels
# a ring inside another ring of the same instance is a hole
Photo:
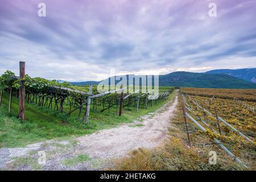
[[[19,77],[25,77],[25,62],[19,62]],[[19,86],[19,118],[25,120],[25,85],[24,81],[20,81]]]

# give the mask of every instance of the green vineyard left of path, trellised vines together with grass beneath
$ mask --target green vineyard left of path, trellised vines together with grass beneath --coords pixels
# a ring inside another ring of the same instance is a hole
[[[26,118],[19,117],[20,82],[25,89]],[[73,135],[132,122],[168,102],[174,88],[160,87],[158,98],[153,93],[98,93],[97,86],[73,86],[68,82],[31,78],[20,79],[11,71],[0,77],[0,146],[23,144]]]

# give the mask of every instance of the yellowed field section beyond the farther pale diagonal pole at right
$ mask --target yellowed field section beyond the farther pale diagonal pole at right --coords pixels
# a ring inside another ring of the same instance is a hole
[[[188,96],[188,102],[191,105],[196,106],[192,100],[196,101],[210,113],[215,112],[214,106],[216,106],[218,115],[246,135],[255,138],[256,112],[254,108],[256,108],[256,102],[254,100],[256,99],[256,90],[221,90],[203,89],[200,92],[198,89],[182,89],[183,93]],[[210,97],[204,96],[206,92]],[[224,95],[226,99],[224,99]],[[239,96],[241,100],[238,100],[238,97],[234,99],[233,96]]]

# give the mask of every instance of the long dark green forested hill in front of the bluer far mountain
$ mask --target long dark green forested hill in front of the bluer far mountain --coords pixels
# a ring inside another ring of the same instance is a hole
[[[129,81],[128,76],[127,81]],[[118,81],[116,81],[117,83]],[[75,82],[73,85],[98,84],[97,81]],[[183,86],[196,88],[256,89],[256,84],[220,73],[173,72],[159,75],[159,86]]]

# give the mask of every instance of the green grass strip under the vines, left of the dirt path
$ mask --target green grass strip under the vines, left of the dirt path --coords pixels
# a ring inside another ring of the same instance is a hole
[[[170,95],[174,95],[174,92]],[[121,123],[130,123],[142,115],[153,112],[168,101],[144,109],[130,107],[123,109],[122,117],[118,117],[115,108],[100,112],[91,109],[89,123],[81,123],[77,120],[78,111],[66,117],[68,105],[64,105],[64,112],[46,109],[35,104],[26,103],[26,121],[21,123],[17,119],[18,99],[13,97],[11,114],[8,114],[9,96],[3,94],[3,103],[0,106],[0,147],[24,147],[26,144],[43,142],[48,139],[70,139],[81,135],[92,134],[98,130],[117,127]],[[84,113],[85,109],[82,110]]]

